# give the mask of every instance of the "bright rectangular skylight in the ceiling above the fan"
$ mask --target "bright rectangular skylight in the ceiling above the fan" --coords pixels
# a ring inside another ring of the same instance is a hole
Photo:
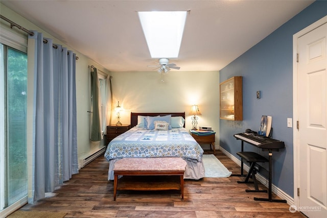
[[[152,58],[177,58],[186,11],[138,12]]]

